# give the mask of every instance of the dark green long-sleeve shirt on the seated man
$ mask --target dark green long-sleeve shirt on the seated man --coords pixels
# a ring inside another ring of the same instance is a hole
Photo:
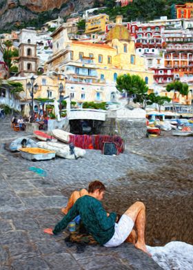
[[[89,195],[79,198],[74,203],[68,214],[54,227],[53,233],[57,234],[65,229],[68,223],[78,215],[81,216],[85,229],[100,245],[104,245],[114,235],[116,213],[107,216],[101,202]]]

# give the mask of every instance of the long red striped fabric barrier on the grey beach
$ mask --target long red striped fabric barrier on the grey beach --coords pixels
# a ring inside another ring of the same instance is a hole
[[[70,142],[83,149],[103,150],[103,143],[114,143],[118,154],[123,153],[125,142],[120,136],[109,135],[70,135]]]

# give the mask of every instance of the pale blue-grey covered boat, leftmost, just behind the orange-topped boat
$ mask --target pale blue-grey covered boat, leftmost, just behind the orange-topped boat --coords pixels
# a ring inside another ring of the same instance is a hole
[[[22,146],[25,148],[37,147],[37,143],[33,141],[31,138],[20,137],[12,141],[12,143],[10,143],[9,149],[11,152],[16,152],[16,151],[19,151],[19,149],[22,148]]]

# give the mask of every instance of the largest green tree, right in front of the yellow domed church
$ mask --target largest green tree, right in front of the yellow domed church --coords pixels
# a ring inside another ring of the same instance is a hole
[[[116,88],[120,92],[127,92],[129,101],[134,95],[134,103],[140,103],[145,109],[148,101],[148,85],[139,75],[125,74],[116,79]]]

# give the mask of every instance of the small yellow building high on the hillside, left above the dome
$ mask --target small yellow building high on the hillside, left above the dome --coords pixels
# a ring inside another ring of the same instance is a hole
[[[85,23],[85,34],[105,32],[105,26],[108,22],[109,16],[107,14],[98,14],[89,17]]]

